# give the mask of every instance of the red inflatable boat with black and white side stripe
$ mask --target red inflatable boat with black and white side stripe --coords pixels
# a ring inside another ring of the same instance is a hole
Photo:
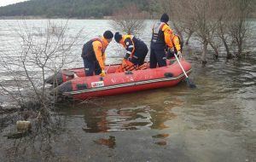
[[[191,65],[189,62],[184,59],[180,62],[184,70],[190,73]],[[95,96],[117,95],[137,90],[174,86],[185,78],[177,62],[167,67],[114,73],[117,67],[116,65],[109,67],[108,75],[104,78],[100,76],[82,77],[84,69],[72,70],[79,76],[78,78],[73,78],[72,75],[65,76],[62,73],[64,83],[57,86],[55,90],[61,95],[67,95],[74,99],[86,99]]]

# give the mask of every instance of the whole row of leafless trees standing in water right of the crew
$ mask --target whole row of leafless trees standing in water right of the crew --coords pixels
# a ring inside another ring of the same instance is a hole
[[[253,12],[255,3],[250,0],[160,0],[160,12],[170,15],[172,26],[179,35],[186,34],[187,41],[192,34],[202,44],[201,61],[207,62],[207,49],[212,47],[214,58],[218,58],[219,47],[224,46],[227,58],[230,48],[241,57],[246,44],[249,24],[247,17]]]

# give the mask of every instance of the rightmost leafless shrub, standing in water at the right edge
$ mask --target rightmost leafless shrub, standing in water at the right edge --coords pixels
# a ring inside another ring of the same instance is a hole
[[[224,44],[227,59],[233,57],[232,49],[237,58],[243,54],[250,30],[247,18],[253,12],[253,5],[253,1],[248,0],[218,3],[218,37]]]

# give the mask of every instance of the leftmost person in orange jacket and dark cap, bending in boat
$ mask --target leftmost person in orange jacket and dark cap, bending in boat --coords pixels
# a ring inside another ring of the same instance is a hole
[[[113,32],[106,31],[102,38],[93,38],[84,44],[82,58],[84,61],[84,71],[86,76],[96,75],[106,76],[105,72],[105,50],[113,39]]]

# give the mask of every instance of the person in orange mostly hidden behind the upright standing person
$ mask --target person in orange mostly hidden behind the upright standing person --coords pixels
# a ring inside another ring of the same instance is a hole
[[[167,59],[172,59],[174,57],[174,53],[181,58],[182,57],[182,51],[183,51],[183,40],[177,35],[173,34],[172,37],[172,44],[174,47],[174,51],[167,51]]]

